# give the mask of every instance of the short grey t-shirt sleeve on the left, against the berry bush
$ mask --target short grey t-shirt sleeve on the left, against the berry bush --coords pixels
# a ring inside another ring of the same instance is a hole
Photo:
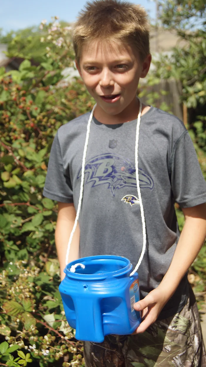
[[[43,195],[61,203],[73,203],[72,185],[69,169],[64,170],[58,132],[51,146],[47,176]]]

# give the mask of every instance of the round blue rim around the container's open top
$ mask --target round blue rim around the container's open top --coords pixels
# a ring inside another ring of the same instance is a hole
[[[84,264],[85,261],[88,261],[88,259],[91,260],[104,260],[104,259],[108,259],[108,258],[112,258],[115,260],[121,260],[124,261],[126,264],[122,269],[119,270],[115,270],[112,272],[108,272],[108,273],[100,273],[100,274],[82,274],[82,273],[72,273],[69,269],[71,268],[72,265],[75,265],[77,263],[81,263]],[[68,269],[69,268],[69,269]],[[78,279],[78,280],[95,280],[95,279],[106,279],[107,277],[118,277],[118,276],[122,276],[125,273],[129,273],[130,270],[132,269],[132,264],[130,262],[129,259],[127,259],[126,257],[123,256],[117,256],[117,255],[95,255],[95,256],[87,256],[87,257],[83,257],[74,261],[69,262],[69,264],[66,265],[66,268],[64,269],[64,272],[66,273],[66,275],[69,278],[74,278],[74,279]]]

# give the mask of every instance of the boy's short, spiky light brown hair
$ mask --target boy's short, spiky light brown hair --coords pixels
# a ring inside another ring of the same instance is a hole
[[[149,22],[140,5],[120,0],[87,2],[73,26],[73,46],[79,63],[82,46],[93,40],[120,40],[138,51],[141,61],[149,54]]]

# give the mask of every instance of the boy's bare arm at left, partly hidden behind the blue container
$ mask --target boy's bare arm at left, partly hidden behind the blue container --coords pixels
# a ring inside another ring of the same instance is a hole
[[[64,269],[66,266],[66,251],[69,242],[69,236],[72,232],[72,228],[75,222],[76,211],[74,204],[58,203],[58,217],[57,225],[55,229],[55,243],[57,248],[57,255],[60,265],[61,280],[64,279]],[[70,251],[69,262],[78,259],[79,257],[79,224],[73,235]]]

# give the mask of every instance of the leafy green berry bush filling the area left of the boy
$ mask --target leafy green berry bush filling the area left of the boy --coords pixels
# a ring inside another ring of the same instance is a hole
[[[19,70],[0,69],[0,362],[7,366],[84,365],[58,292],[57,206],[42,197],[57,129],[93,103],[82,81],[62,83],[62,68],[73,65],[69,32],[55,21],[40,65],[25,59]]]

